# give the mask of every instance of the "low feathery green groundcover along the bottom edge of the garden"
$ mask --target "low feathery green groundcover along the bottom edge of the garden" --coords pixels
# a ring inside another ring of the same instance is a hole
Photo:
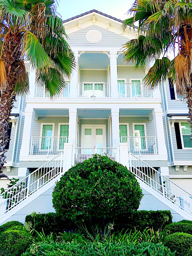
[[[30,249],[22,256],[174,256],[163,244],[142,243],[138,246],[117,243],[51,243],[40,244],[37,252],[32,254]]]

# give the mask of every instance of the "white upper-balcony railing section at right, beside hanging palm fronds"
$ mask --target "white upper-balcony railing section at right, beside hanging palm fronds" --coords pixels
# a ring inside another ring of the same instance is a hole
[[[118,83],[119,98],[152,98],[152,90],[144,84]]]

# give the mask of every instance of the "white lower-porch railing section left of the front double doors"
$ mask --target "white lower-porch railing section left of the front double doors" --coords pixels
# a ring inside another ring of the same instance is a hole
[[[67,137],[31,137],[30,155],[59,154],[65,143]]]

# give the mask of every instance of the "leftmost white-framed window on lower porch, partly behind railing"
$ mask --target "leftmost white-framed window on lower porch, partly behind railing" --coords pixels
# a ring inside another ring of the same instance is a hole
[[[54,129],[53,124],[42,124],[41,149],[43,150],[51,149],[53,129]]]

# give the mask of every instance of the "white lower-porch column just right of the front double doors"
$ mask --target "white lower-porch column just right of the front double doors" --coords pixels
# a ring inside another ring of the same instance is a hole
[[[119,134],[119,108],[111,109],[111,125],[112,125],[112,140],[113,147],[118,148],[120,143]]]

